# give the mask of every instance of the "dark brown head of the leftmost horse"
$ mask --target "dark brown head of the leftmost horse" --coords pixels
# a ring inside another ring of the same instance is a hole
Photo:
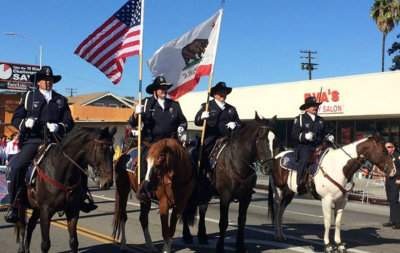
[[[113,136],[115,127],[95,129],[93,138],[88,143],[90,152],[87,160],[101,189],[108,189],[113,184]]]

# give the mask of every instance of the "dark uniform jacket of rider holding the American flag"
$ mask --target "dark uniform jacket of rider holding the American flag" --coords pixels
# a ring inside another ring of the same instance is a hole
[[[178,102],[166,98],[162,108],[155,97],[148,97],[142,101],[142,105],[144,105],[142,114],[144,140],[155,142],[164,138],[175,138],[179,126],[187,128],[186,117]],[[137,127],[137,117],[132,115],[129,124]]]

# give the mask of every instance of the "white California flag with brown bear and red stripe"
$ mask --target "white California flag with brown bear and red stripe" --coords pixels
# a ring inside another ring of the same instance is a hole
[[[153,76],[163,75],[174,86],[168,91],[177,99],[193,90],[200,77],[213,69],[222,9],[193,30],[159,48],[147,62]]]

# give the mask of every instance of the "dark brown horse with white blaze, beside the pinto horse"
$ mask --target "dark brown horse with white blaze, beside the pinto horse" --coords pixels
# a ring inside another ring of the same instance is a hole
[[[244,125],[227,140],[226,146],[220,151],[216,160],[211,184],[220,199],[219,238],[216,252],[224,252],[225,232],[228,227],[229,206],[232,201],[239,202],[238,230],[236,235],[236,251],[246,252],[244,244],[244,228],[246,225],[247,209],[251,202],[257,175],[255,167],[264,170],[272,167],[274,152],[277,151],[278,140],[274,133],[276,117],[271,121],[261,119],[257,113],[254,120]],[[204,180],[198,180],[199,183]],[[207,188],[199,186],[196,192],[209,194]],[[208,201],[211,194],[206,196]],[[205,196],[198,199],[204,200]],[[205,227],[206,203],[199,205],[198,241],[208,243]],[[199,203],[197,203],[199,204]],[[186,217],[183,220],[183,239],[186,243],[193,241]]]

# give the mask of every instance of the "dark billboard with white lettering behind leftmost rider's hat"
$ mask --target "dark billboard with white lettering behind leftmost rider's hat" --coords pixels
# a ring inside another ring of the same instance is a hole
[[[38,65],[0,62],[0,89],[27,90],[34,85],[29,77],[39,69]]]

